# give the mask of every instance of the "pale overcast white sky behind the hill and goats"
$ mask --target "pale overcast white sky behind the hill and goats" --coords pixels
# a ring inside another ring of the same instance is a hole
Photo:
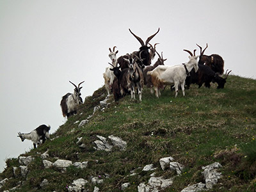
[[[118,56],[139,49],[129,28],[144,41],[160,28],[150,43],[160,43],[166,65],[188,61],[183,49],[208,43],[205,54],[220,54],[225,69],[255,79],[255,19],[255,0],[1,0],[0,171],[6,158],[33,147],[17,132],[41,124],[54,132],[65,122],[60,100],[73,92],[69,80],[85,81],[84,99],[104,84],[109,47]]]

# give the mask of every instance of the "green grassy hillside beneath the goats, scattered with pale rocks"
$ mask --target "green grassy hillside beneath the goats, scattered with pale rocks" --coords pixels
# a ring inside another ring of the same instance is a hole
[[[67,191],[73,180],[101,177],[103,184],[88,182],[86,189],[93,191],[121,191],[121,185],[130,182],[125,191],[138,191],[138,185],[150,178],[150,172],[139,167],[154,164],[157,176],[170,178],[171,170],[162,171],[159,159],[172,156],[185,165],[181,175],[175,177],[171,187],[163,191],[181,191],[188,184],[204,182],[202,166],[219,162],[222,177],[209,191],[255,191],[256,190],[256,81],[229,76],[225,88],[217,90],[192,85],[186,96],[179,92],[175,98],[170,87],[166,87],[157,99],[147,88],[143,89],[142,102],[127,96],[119,102],[111,102],[108,108],[97,111],[88,124],[78,128],[74,124],[92,115],[93,108],[106,97],[104,88],[87,97],[79,109],[51,134],[54,140],[46,141],[37,149],[22,156],[33,156],[28,166],[28,175],[13,176],[13,166],[19,167],[18,159],[8,159],[7,168],[0,174],[8,182],[0,189],[11,189],[20,184],[17,191]],[[113,101],[113,99],[111,100]],[[127,142],[124,151],[113,148],[111,152],[95,150],[96,135],[109,135]],[[77,145],[83,137],[85,148]],[[32,143],[31,143],[32,145]],[[40,154],[49,150],[47,160],[56,158],[74,162],[88,161],[84,170],[69,166],[66,172],[55,168],[44,168]],[[133,176],[131,171],[138,173]],[[49,184],[40,188],[42,180]]]

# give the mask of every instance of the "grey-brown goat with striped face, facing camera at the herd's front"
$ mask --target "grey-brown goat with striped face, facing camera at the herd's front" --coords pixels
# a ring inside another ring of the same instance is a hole
[[[128,59],[124,58],[129,63],[129,68],[124,68],[119,77],[120,93],[124,96],[126,93],[131,93],[131,98],[135,99],[135,88],[138,88],[138,95],[141,101],[143,88],[143,73],[137,61],[132,54],[127,54]]]

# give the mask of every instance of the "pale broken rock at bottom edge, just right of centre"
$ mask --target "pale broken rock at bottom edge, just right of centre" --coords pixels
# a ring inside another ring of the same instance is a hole
[[[163,177],[151,177],[146,185],[142,182],[138,186],[138,192],[158,192],[171,186],[173,179],[163,179]]]

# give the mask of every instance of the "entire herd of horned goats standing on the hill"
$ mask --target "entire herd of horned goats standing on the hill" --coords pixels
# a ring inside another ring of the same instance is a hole
[[[125,54],[116,58],[116,54],[118,53],[118,51],[115,51],[116,46],[112,50],[109,48],[111,63],[109,63],[110,66],[106,68],[106,72],[103,74],[108,95],[113,92],[114,99],[118,100],[124,97],[124,95],[131,94],[131,98],[135,99],[135,89],[137,88],[141,101],[144,85],[150,88],[152,93],[155,90],[156,97],[161,95],[160,91],[168,84],[174,84],[175,97],[177,97],[179,88],[181,88],[183,96],[185,95],[185,84],[188,89],[191,83],[198,84],[198,88],[202,84],[210,88],[210,83],[212,82],[218,83],[217,88],[224,88],[231,70],[228,73],[227,70],[225,77],[221,77],[224,72],[224,61],[218,54],[211,54],[211,56],[205,55],[204,52],[208,47],[207,44],[203,51],[202,47],[196,44],[200,48],[200,56],[195,55],[196,49],[193,51],[193,54],[191,51],[184,49],[190,55],[187,63],[174,66],[164,65],[166,59],[163,58],[163,52],[160,56],[156,51],[157,44],[154,44],[154,46],[149,44],[150,40],[157,35],[159,30],[158,28],[157,32],[149,36],[144,43],[139,36],[132,33],[131,29],[129,29],[131,34],[141,44],[139,51],[134,51],[132,54]],[[156,53],[159,58],[154,65],[150,65]],[[198,57],[199,61],[197,61]],[[72,83],[71,81],[69,82]],[[62,97],[60,105],[64,117],[67,116],[68,118],[70,115],[76,114],[79,104],[83,103],[80,97],[80,91],[83,88],[80,87],[82,83],[84,81],[79,83],[78,86],[72,83],[75,86],[74,93],[67,93]],[[44,143],[45,138],[49,138],[49,130],[50,126],[40,125],[28,134],[20,134],[19,132],[18,137],[22,141],[25,139],[33,141],[34,148],[36,148],[36,144],[40,140]]]

